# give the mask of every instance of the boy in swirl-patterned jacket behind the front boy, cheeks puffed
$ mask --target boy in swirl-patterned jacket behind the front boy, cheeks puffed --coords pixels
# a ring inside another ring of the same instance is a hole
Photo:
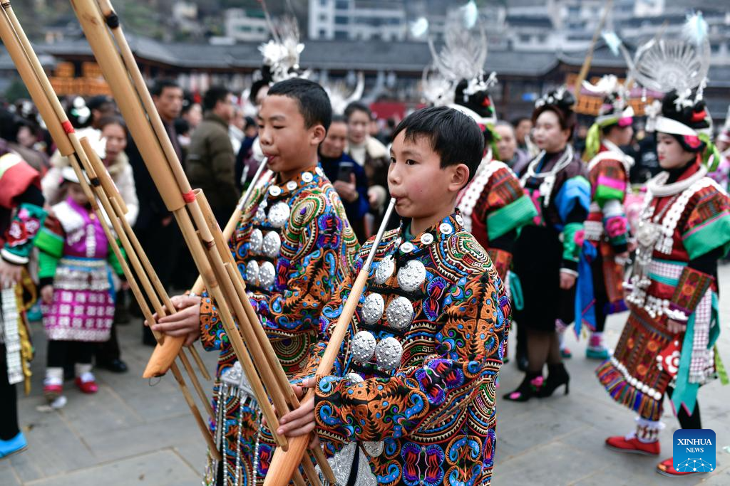
[[[289,79],[272,86],[258,114],[258,137],[274,176],[254,189],[229,242],[251,301],[288,374],[299,372],[326,302],[349,271],[358,243],[337,192],[318,166],[317,148],[331,119],[320,85]],[[263,480],[273,440],[220,324],[215,302],[173,297],[180,312],[153,329],[200,337],[220,350],[212,429],[225,456],[209,460],[207,484],[253,485]]]

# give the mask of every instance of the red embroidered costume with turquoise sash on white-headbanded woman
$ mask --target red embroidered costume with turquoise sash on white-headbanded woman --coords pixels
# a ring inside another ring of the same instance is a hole
[[[688,264],[714,252],[716,266],[730,249],[730,197],[706,172],[694,163],[674,192],[666,190],[666,172],[649,181],[626,299],[631,314],[614,355],[597,370],[616,401],[651,420],[661,416],[668,385],[675,407],[693,410],[699,385],[715,377],[719,362],[717,281]],[[670,333],[668,318],[686,330]]]

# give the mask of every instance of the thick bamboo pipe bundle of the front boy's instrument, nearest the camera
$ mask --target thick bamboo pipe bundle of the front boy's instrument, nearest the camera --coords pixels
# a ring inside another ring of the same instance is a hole
[[[259,364],[258,367],[255,367],[252,356],[248,351],[250,347],[247,348],[236,327],[237,322],[242,328],[253,327],[252,322],[247,317],[251,314],[255,316],[255,312],[253,308],[247,310],[247,307],[250,307],[248,299],[241,302],[241,299],[235,293],[231,275],[223,264],[223,258],[230,259],[230,252],[225,252],[227,256],[220,254],[214,239],[214,236],[220,238],[220,229],[217,224],[210,224],[212,218],[210,216],[206,217],[199,203],[199,195],[191,190],[180,161],[177,160],[172,150],[172,144],[170,144],[164,129],[161,129],[159,115],[151,103],[147,87],[142,81],[141,74],[139,74],[139,68],[134,63],[134,57],[123,39],[118,18],[110,10],[110,5],[108,2],[104,2],[104,7],[109,12],[107,23],[114,31],[116,45],[107,30],[107,26],[104,25],[104,18],[101,16],[99,4],[95,0],[72,0],[72,6],[101,71],[119,102],[120,111],[122,111],[128,126],[134,128],[134,130],[131,130],[131,134],[137,142],[140,152],[142,152],[145,164],[150,168],[150,173],[153,170],[157,173],[157,176],[153,176],[153,181],[160,189],[161,196],[180,225],[185,243],[191,250],[193,260],[196,262],[205,286],[218,305],[223,329],[226,330],[231,348],[239,358],[252,385],[261,412],[274,431],[274,440],[280,448],[286,449],[288,447],[287,439],[285,436],[275,434],[275,431],[278,428],[277,413],[278,415],[284,415],[289,410],[286,406],[286,397],[287,393],[291,393],[291,387],[287,384],[287,387],[283,389],[281,382],[272,373],[268,363],[266,366]],[[165,165],[166,168],[159,168],[161,165]],[[180,200],[183,200],[183,205],[179,204]],[[236,276],[239,284],[244,286],[240,274]],[[244,308],[241,309],[241,307]],[[257,319],[255,326],[258,325]],[[259,342],[255,343],[255,350],[260,349],[260,344]],[[264,346],[267,345],[270,346],[268,340],[264,342]],[[278,362],[276,368],[280,369]],[[274,413],[269,397],[266,395],[267,392],[274,403],[284,404],[281,408],[277,407],[277,413]],[[323,454],[320,453],[318,457],[323,458]],[[331,471],[326,460],[318,460],[318,462],[328,479],[334,479],[332,477],[334,475],[328,474]],[[310,477],[310,480],[317,482],[317,478]]]

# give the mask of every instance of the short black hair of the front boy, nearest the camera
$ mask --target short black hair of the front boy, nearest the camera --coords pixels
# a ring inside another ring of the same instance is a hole
[[[469,181],[474,177],[484,154],[484,136],[477,122],[461,111],[447,106],[431,106],[414,111],[401,120],[393,139],[404,132],[406,140],[425,137],[441,157],[441,168],[465,164]]]

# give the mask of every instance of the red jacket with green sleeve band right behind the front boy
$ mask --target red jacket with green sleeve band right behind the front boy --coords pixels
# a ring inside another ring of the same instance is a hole
[[[517,230],[537,216],[517,176],[498,160],[483,160],[456,205],[464,215],[464,229],[487,250],[506,281]]]

